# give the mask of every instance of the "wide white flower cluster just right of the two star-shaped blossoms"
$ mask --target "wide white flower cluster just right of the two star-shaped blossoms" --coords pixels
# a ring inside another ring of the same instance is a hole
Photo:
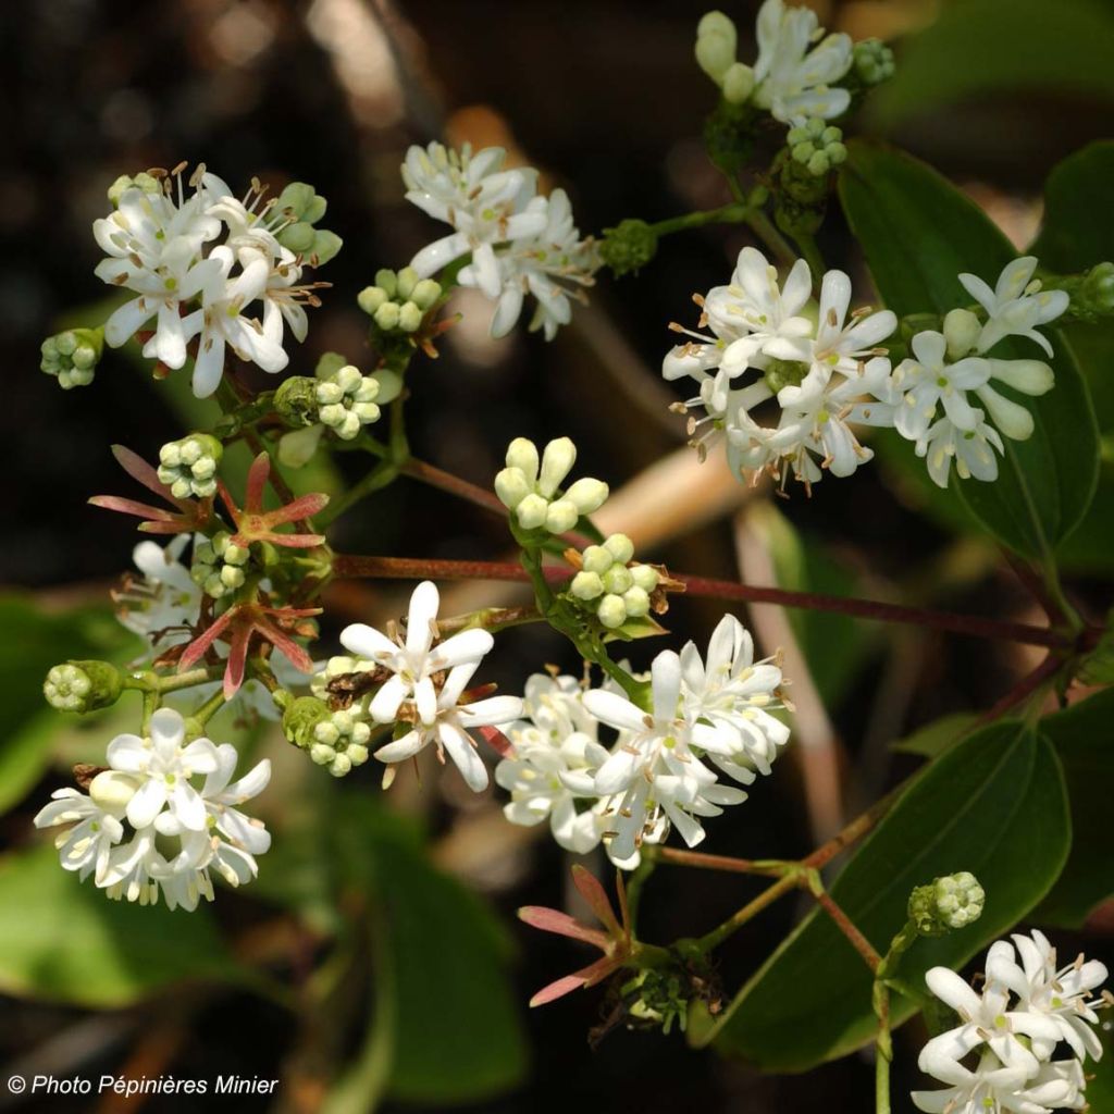
[[[648,713],[610,685],[584,691],[573,677],[535,675],[526,720],[509,730],[515,754],[496,769],[511,794],[507,819],[548,818],[557,842],[578,853],[603,840],[624,869],[671,828],[694,847],[703,819],[746,799],[719,774],[749,785],[755,771],[770,773],[788,741],[771,714],[783,706],[781,684],[779,666],[754,661],[750,634],[731,615],[715,628],[706,663],[693,643],[654,658]],[[600,724],[617,732],[609,746]]]

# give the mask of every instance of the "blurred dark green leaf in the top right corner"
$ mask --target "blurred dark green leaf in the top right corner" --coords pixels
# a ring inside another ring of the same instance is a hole
[[[1009,89],[1114,99],[1114,18],[1097,0],[966,0],[903,45],[868,101],[887,128],[944,105]],[[988,49],[993,45],[993,49]]]

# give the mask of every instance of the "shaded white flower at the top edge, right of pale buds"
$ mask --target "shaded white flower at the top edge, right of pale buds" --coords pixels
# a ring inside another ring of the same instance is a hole
[[[821,36],[817,13],[810,8],[786,8],[782,0],[765,0],[758,18],[759,57],[754,63],[753,100],[784,124],[809,117],[832,119],[851,102],[847,89],[832,88],[851,68],[850,36]]]

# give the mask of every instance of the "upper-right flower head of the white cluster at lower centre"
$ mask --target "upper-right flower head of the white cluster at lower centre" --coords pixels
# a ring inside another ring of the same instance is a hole
[[[770,773],[778,747],[789,740],[789,727],[770,714],[784,706],[781,668],[770,659],[754,661],[754,642],[733,615],[724,615],[712,632],[706,664],[691,642],[680,662],[693,743],[744,784],[754,781],[749,764]]]

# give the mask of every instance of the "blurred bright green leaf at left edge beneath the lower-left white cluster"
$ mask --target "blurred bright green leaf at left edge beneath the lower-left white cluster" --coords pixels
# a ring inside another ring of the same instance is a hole
[[[50,846],[0,859],[0,990],[120,1007],[185,979],[252,980],[208,910],[113,901],[61,869]]]

